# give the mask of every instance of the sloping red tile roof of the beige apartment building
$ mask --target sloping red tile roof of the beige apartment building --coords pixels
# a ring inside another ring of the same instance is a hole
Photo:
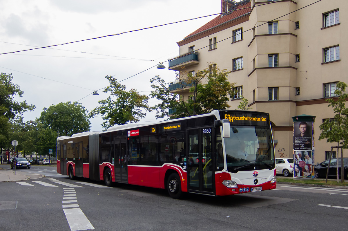
[[[250,6],[251,6],[250,1],[245,3],[245,4],[238,5],[238,6],[236,6],[235,9],[233,9],[234,11],[232,13],[224,15],[223,17],[221,17],[221,15],[217,16],[212,21],[206,23],[205,25],[201,26],[199,29],[197,29],[194,32],[190,33],[184,39],[186,39],[186,38],[188,38],[190,36],[193,36],[195,34],[198,34],[198,33],[202,32],[202,31],[211,29],[211,28],[213,28],[213,27],[215,27],[217,25],[220,25],[220,24],[222,24],[224,22],[230,21],[230,20],[232,20],[234,18],[237,18],[237,17],[239,17],[241,15],[250,13],[250,10],[251,10]],[[238,9],[240,9],[240,10],[238,10]]]

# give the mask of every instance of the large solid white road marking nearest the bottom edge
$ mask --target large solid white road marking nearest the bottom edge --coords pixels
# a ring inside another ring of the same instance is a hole
[[[80,208],[63,209],[71,231],[94,229]]]

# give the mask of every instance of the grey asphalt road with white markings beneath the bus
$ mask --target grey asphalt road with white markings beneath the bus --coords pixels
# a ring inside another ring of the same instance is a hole
[[[72,181],[53,166],[18,171],[46,177],[0,183],[0,231],[348,229],[345,189],[278,184],[271,191],[175,200],[156,188]]]

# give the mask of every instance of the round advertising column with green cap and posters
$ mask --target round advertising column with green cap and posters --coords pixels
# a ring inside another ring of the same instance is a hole
[[[314,120],[315,116],[293,116],[294,178],[314,178]]]

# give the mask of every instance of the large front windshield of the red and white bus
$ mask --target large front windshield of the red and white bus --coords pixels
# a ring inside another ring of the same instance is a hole
[[[230,126],[224,138],[229,172],[273,169],[274,150],[271,130],[263,126]]]

